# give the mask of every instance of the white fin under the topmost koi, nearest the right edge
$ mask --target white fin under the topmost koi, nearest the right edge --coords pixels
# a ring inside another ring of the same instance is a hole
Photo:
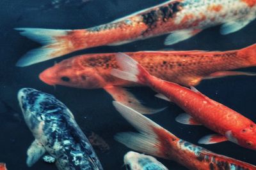
[[[239,31],[240,29],[243,29],[246,25],[248,25],[251,22],[251,20],[236,20],[227,22],[223,25],[221,25],[220,33],[223,35],[227,35],[236,31]]]

